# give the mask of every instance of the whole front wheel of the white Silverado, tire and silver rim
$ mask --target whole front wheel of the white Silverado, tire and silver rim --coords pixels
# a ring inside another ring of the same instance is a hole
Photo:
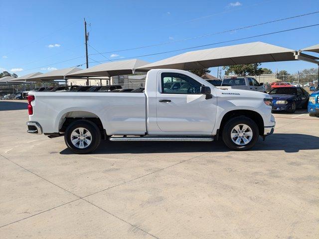
[[[255,121],[242,116],[228,120],[222,130],[224,143],[234,150],[250,149],[255,145],[259,136],[259,129]]]

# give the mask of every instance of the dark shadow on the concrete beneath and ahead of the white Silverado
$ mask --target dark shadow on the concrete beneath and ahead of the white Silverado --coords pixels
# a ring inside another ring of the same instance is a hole
[[[284,150],[287,153],[299,150],[319,149],[319,137],[298,133],[274,133],[265,141],[261,138],[250,151]],[[92,154],[121,153],[179,153],[179,152],[228,152],[222,140],[215,142],[110,142],[101,141]],[[60,154],[73,154],[64,149]]]

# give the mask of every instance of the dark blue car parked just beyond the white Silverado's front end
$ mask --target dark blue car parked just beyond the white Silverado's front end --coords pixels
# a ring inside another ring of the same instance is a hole
[[[307,109],[309,93],[302,87],[278,87],[269,92],[273,97],[273,112],[294,113],[297,108]]]

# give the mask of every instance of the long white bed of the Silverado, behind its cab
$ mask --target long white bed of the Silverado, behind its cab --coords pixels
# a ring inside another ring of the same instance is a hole
[[[65,118],[99,118],[107,134],[145,134],[146,96],[121,92],[30,92],[33,115],[44,133],[58,132]],[[90,113],[88,112],[90,111]]]

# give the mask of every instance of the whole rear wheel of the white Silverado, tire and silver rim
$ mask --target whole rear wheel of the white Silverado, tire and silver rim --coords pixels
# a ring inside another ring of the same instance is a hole
[[[98,126],[85,119],[72,122],[65,130],[64,141],[68,148],[77,154],[94,151],[101,142]]]

